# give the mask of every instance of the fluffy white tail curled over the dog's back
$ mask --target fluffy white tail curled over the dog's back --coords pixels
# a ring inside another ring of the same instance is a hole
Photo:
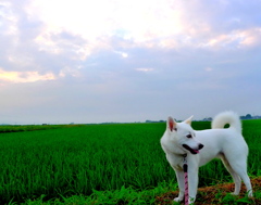
[[[240,118],[236,113],[232,111],[217,114],[212,120],[211,127],[212,129],[222,129],[226,124],[229,124],[229,128],[234,128],[239,133],[241,133]]]

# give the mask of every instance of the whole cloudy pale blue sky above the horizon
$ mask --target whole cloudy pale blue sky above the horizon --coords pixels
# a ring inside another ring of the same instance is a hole
[[[261,115],[261,0],[0,0],[0,124]]]

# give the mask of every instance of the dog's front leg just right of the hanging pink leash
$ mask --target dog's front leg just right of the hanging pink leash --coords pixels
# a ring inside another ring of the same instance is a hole
[[[188,192],[189,192],[189,204],[192,204],[196,200],[198,191],[198,168],[188,167]]]

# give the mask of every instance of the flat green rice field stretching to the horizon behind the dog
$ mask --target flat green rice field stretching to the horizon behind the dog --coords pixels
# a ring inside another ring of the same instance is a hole
[[[261,176],[261,120],[243,126],[249,176]],[[0,127],[0,204],[176,183],[160,146],[165,124],[36,127]],[[192,127],[208,129],[210,123]],[[199,187],[228,181],[220,161],[200,168]]]

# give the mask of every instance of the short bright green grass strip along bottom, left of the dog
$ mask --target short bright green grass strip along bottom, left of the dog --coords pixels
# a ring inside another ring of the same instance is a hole
[[[176,190],[177,184],[173,181],[171,183],[162,182],[157,188],[148,189],[144,191],[135,190],[133,188],[125,188],[113,191],[96,191],[89,196],[86,195],[73,195],[70,197],[62,196],[60,198],[45,200],[45,195],[41,195],[37,200],[27,200],[22,205],[82,205],[82,204],[156,204],[158,195]],[[14,205],[15,202],[10,202],[8,205]]]

